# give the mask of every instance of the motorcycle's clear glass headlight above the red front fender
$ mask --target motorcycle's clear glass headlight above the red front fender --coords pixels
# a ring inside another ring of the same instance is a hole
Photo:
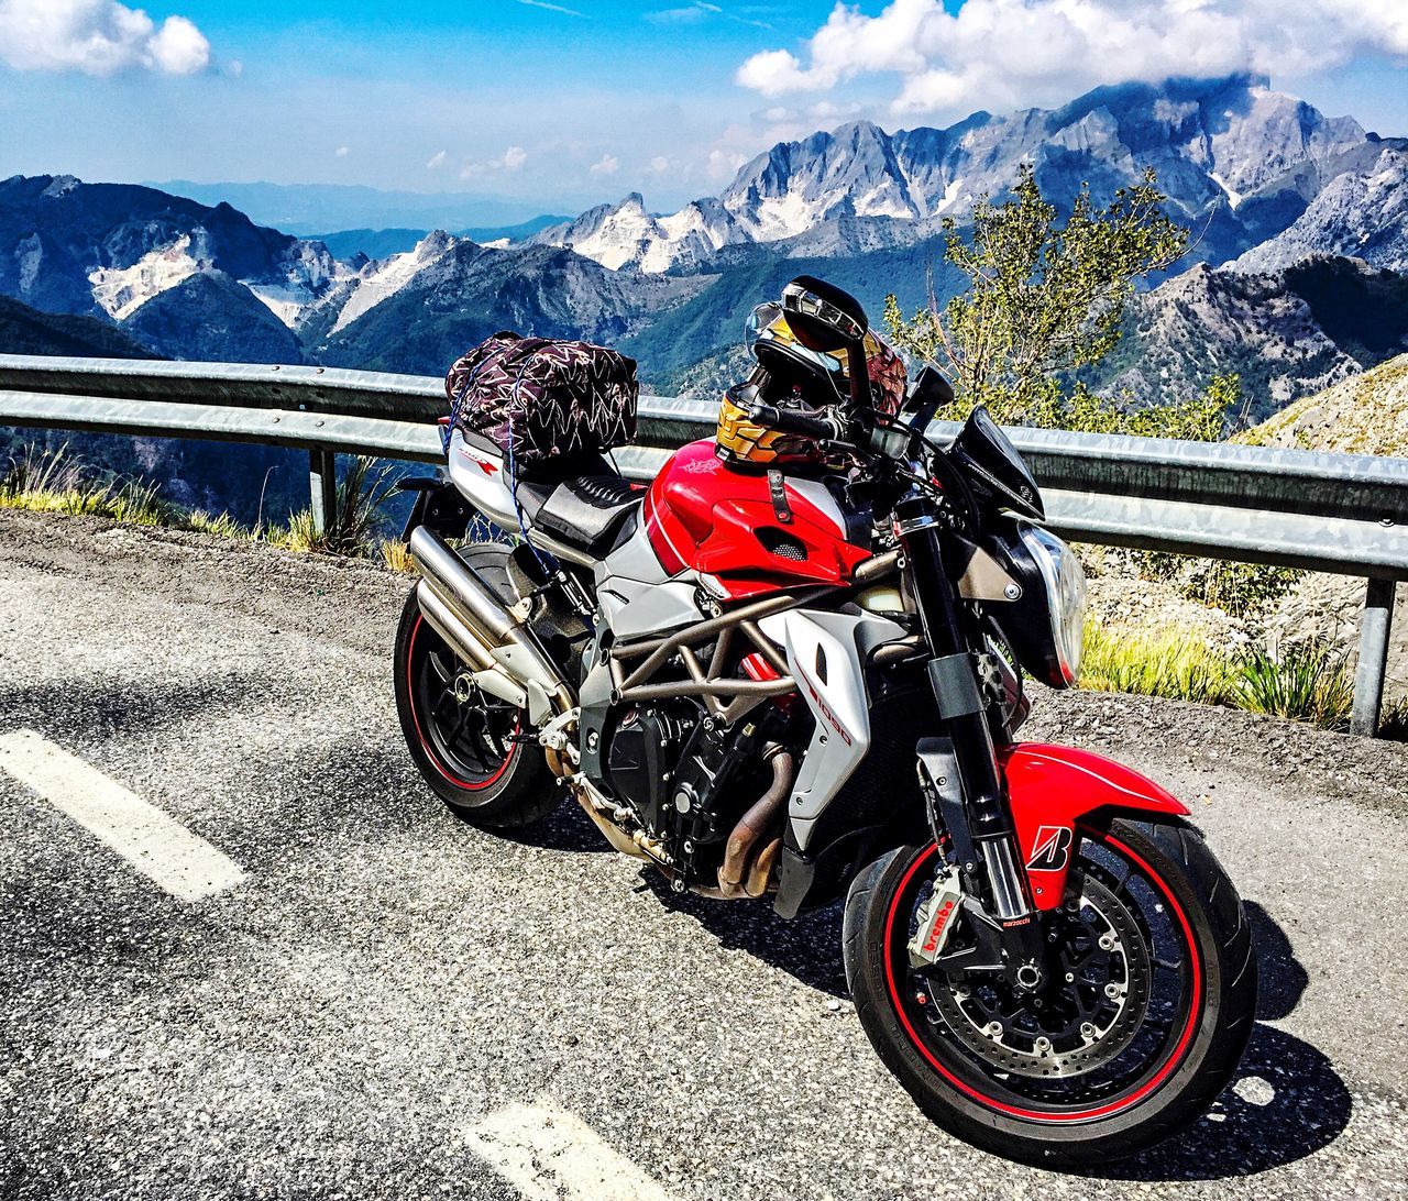
[[[1086,573],[1055,534],[1014,521],[993,543],[1022,586],[1014,604],[993,605],[1022,667],[1043,684],[1069,688],[1080,673],[1086,632]]]

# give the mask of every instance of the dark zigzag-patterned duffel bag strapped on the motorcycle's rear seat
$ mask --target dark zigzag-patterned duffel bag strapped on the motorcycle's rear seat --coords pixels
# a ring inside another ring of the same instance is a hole
[[[491,438],[515,465],[610,451],[635,438],[635,359],[504,331],[445,376],[451,425]]]

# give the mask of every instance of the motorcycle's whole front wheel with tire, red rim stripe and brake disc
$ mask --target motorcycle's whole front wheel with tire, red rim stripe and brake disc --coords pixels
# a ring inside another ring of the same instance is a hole
[[[912,966],[934,843],[876,860],[846,900],[846,979],[886,1066],[959,1138],[1045,1166],[1184,1128],[1232,1079],[1256,1015],[1250,928],[1202,839],[1124,819],[1079,834],[1062,907],[1041,918],[1035,990]]]

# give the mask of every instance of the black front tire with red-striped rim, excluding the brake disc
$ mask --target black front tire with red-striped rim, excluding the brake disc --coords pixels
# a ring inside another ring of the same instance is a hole
[[[1117,819],[1108,829],[1083,829],[1081,836],[1084,843],[1102,848],[1100,853],[1140,863],[1139,879],[1149,881],[1145,891],[1157,903],[1152,910],[1156,919],[1167,915],[1169,928],[1183,931],[1177,938],[1150,933],[1139,919],[1150,945],[1149,963],[1164,969],[1160,957],[1177,959],[1174,970],[1159,979],[1181,980],[1184,1000],[1162,1010],[1166,1022],[1150,1019],[1155,1005],[1149,1005],[1126,1050],[1112,1056],[1110,1081],[1097,1076],[1104,1067],[1046,1080],[1032,1079],[1043,1073],[1019,1074],[984,1063],[973,1050],[981,1039],[953,1025],[962,1008],[945,1010],[936,997],[949,981],[939,974],[911,974],[904,950],[910,907],[922,881],[932,879],[934,843],[905,846],[876,860],[856,877],[846,898],[846,980],[856,1014],[886,1066],[945,1129],[994,1155],[1046,1167],[1097,1166],[1135,1155],[1187,1126],[1232,1079],[1256,1017],[1250,926],[1236,890],[1197,832],[1176,822]],[[901,915],[904,925],[898,925]],[[1128,922],[1122,936],[1131,936]],[[1180,941],[1181,949],[1174,946]],[[969,998],[979,993],[977,984],[967,987],[976,979],[964,977],[962,993],[953,994],[963,1004],[972,1005]],[[1138,1033],[1145,1024],[1148,1038]],[[1012,1052],[1001,1046],[1011,1035],[1000,1026],[994,1026],[993,1059],[1005,1053],[1011,1064]],[[1160,1035],[1160,1029],[1167,1032]],[[1139,1046],[1150,1048],[1148,1067],[1135,1059],[1129,1074],[1115,1079],[1114,1064],[1129,1063],[1121,1056],[1133,1056]],[[1067,1081],[1074,1081],[1074,1091]],[[1090,1090],[1088,1100],[1081,1098],[1083,1088]]]

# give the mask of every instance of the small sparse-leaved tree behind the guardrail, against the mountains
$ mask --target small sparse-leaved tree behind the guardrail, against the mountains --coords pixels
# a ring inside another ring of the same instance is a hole
[[[1118,410],[1079,386],[1064,394],[1060,380],[1115,348],[1135,282],[1187,248],[1187,231],[1164,214],[1164,200],[1149,169],[1105,208],[1081,184],[1060,221],[1024,166],[1011,200],[977,203],[969,237],[946,220],[945,259],[967,276],[967,287],[942,311],[931,298],[908,320],[891,296],[884,314],[894,342],[953,383],[957,400],[943,415],[986,404],[1005,424],[1108,427],[1111,418],[1097,411]]]

